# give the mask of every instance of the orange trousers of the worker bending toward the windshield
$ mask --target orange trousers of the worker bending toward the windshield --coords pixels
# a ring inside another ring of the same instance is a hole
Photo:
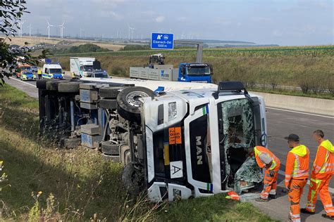
[[[273,176],[270,175],[269,169],[266,169],[264,173],[264,190],[262,190],[260,197],[262,199],[268,199],[269,195],[276,195],[277,188],[277,176],[278,171],[280,170],[280,162],[279,160],[276,162],[276,166],[273,169]]]

